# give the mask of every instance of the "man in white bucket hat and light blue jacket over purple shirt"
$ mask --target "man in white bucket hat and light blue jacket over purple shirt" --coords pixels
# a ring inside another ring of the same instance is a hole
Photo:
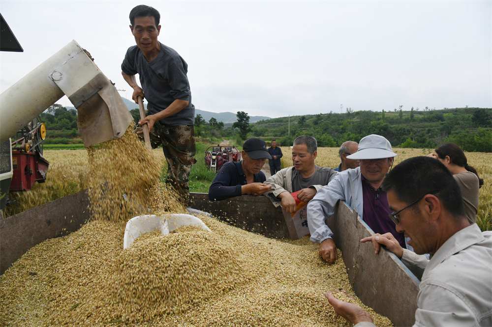
[[[361,139],[356,153],[348,159],[361,161],[360,167],[347,169],[338,175],[324,189],[317,192],[307,205],[307,223],[311,242],[319,243],[319,255],[329,263],[337,259],[337,247],[332,240],[332,231],[325,219],[333,215],[338,200],[347,202],[375,233],[394,235],[402,247],[405,239],[395,229],[389,218],[391,213],[386,192],[381,183],[393,165],[390,142],[380,135],[369,135]]]

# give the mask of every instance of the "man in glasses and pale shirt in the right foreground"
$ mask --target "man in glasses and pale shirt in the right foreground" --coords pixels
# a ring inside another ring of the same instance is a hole
[[[492,232],[470,225],[453,175],[437,160],[414,157],[397,165],[382,188],[397,231],[410,238],[415,253],[391,233],[361,242],[371,241],[376,254],[386,246],[421,279],[414,326],[492,326]],[[351,323],[374,326],[360,307],[325,296]]]

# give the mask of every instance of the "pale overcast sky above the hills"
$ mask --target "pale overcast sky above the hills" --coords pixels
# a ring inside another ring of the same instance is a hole
[[[197,109],[250,116],[492,108],[492,1],[22,1],[0,12],[24,53],[0,53],[0,91],[72,39],[123,97],[128,14],[159,10]],[[63,98],[60,104],[72,106]]]

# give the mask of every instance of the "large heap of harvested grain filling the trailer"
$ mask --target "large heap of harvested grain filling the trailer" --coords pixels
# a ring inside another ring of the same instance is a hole
[[[1,326],[350,326],[323,293],[350,288],[341,258],[317,245],[212,229],[144,234],[93,221],[33,247],[0,277]],[[391,325],[359,300],[378,326]]]

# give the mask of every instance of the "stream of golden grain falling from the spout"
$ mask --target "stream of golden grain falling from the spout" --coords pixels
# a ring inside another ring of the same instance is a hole
[[[126,222],[163,212],[184,213],[174,189],[159,182],[163,163],[133,133],[88,149],[92,220]]]

